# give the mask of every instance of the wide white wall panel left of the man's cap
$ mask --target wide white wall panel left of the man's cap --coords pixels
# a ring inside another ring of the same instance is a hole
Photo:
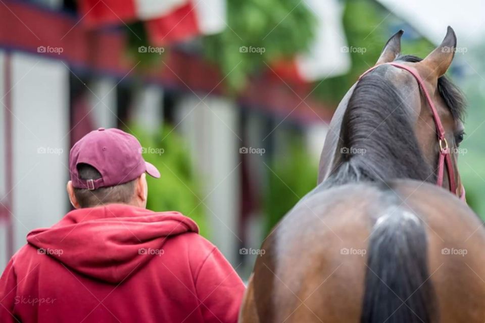
[[[59,61],[12,54],[14,248],[68,210],[69,71]]]

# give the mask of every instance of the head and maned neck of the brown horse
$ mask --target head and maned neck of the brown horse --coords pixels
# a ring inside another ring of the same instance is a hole
[[[338,105],[320,158],[319,183],[346,163],[361,171],[353,176],[359,179],[436,182],[440,152],[447,149],[449,172],[439,182],[448,188],[453,177],[454,193],[460,195],[457,155],[464,133],[464,101],[444,76],[453,61],[455,33],[448,27],[443,42],[423,60],[401,55],[402,34],[401,30],[386,42],[375,66]]]

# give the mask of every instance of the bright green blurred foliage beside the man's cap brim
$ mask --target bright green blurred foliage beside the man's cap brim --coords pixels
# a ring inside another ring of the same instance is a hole
[[[184,140],[169,126],[154,135],[136,125],[130,125],[127,131],[138,138],[144,148],[143,158],[155,165],[161,174],[159,179],[147,176],[147,208],[179,211],[196,221],[201,235],[208,237],[210,232],[204,204],[199,198],[199,182]]]

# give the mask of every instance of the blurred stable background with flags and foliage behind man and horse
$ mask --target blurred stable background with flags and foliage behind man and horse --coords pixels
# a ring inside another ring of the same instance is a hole
[[[451,25],[448,74],[468,113],[460,174],[485,215],[480,0],[0,0],[0,267],[71,209],[69,149],[134,134],[162,177],[149,205],[195,219],[247,278],[276,222],[317,180],[343,95],[404,29],[426,56]]]

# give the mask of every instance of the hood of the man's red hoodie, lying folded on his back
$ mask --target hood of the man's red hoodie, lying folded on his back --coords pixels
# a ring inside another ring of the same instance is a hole
[[[120,283],[161,252],[168,237],[186,232],[199,228],[178,212],[109,204],[73,210],[52,228],[31,231],[27,242],[79,273]]]

